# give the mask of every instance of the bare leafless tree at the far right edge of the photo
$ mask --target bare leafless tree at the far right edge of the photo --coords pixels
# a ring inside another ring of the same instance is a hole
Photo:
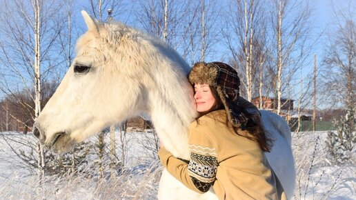
[[[329,102],[351,110],[356,103],[356,23],[353,18],[339,20],[326,52],[322,82]]]

